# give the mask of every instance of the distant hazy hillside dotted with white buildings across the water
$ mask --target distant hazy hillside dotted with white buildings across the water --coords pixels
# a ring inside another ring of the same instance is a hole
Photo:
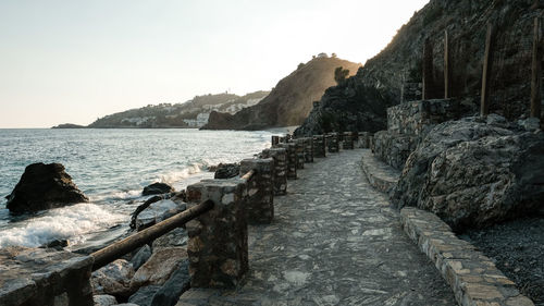
[[[256,105],[268,94],[269,91],[256,91],[243,97],[232,94],[205,95],[196,96],[184,103],[149,105],[106,115],[88,127],[200,127],[208,122],[211,111],[235,113]]]

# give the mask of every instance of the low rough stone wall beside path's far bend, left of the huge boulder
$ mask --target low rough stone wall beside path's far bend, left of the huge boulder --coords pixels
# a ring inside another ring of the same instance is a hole
[[[374,156],[391,167],[403,170],[406,160],[417,148],[419,137],[412,134],[396,134],[380,131],[374,134],[372,151]]]

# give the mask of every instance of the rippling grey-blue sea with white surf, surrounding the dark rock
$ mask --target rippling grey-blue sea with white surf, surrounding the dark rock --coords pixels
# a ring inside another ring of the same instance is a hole
[[[210,179],[209,166],[235,162],[270,146],[273,132],[198,130],[0,130],[0,247],[36,247],[66,238],[70,248],[126,232],[153,182],[183,189]],[[60,162],[90,203],[10,216],[5,196],[25,167]]]

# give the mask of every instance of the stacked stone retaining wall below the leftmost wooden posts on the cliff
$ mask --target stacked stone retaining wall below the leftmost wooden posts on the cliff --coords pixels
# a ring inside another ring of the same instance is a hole
[[[387,109],[387,131],[424,135],[434,125],[459,117],[456,99],[419,100]]]

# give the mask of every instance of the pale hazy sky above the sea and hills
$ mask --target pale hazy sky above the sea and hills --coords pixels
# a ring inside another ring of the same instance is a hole
[[[383,49],[429,0],[0,0],[0,127],[269,90],[319,52]]]

